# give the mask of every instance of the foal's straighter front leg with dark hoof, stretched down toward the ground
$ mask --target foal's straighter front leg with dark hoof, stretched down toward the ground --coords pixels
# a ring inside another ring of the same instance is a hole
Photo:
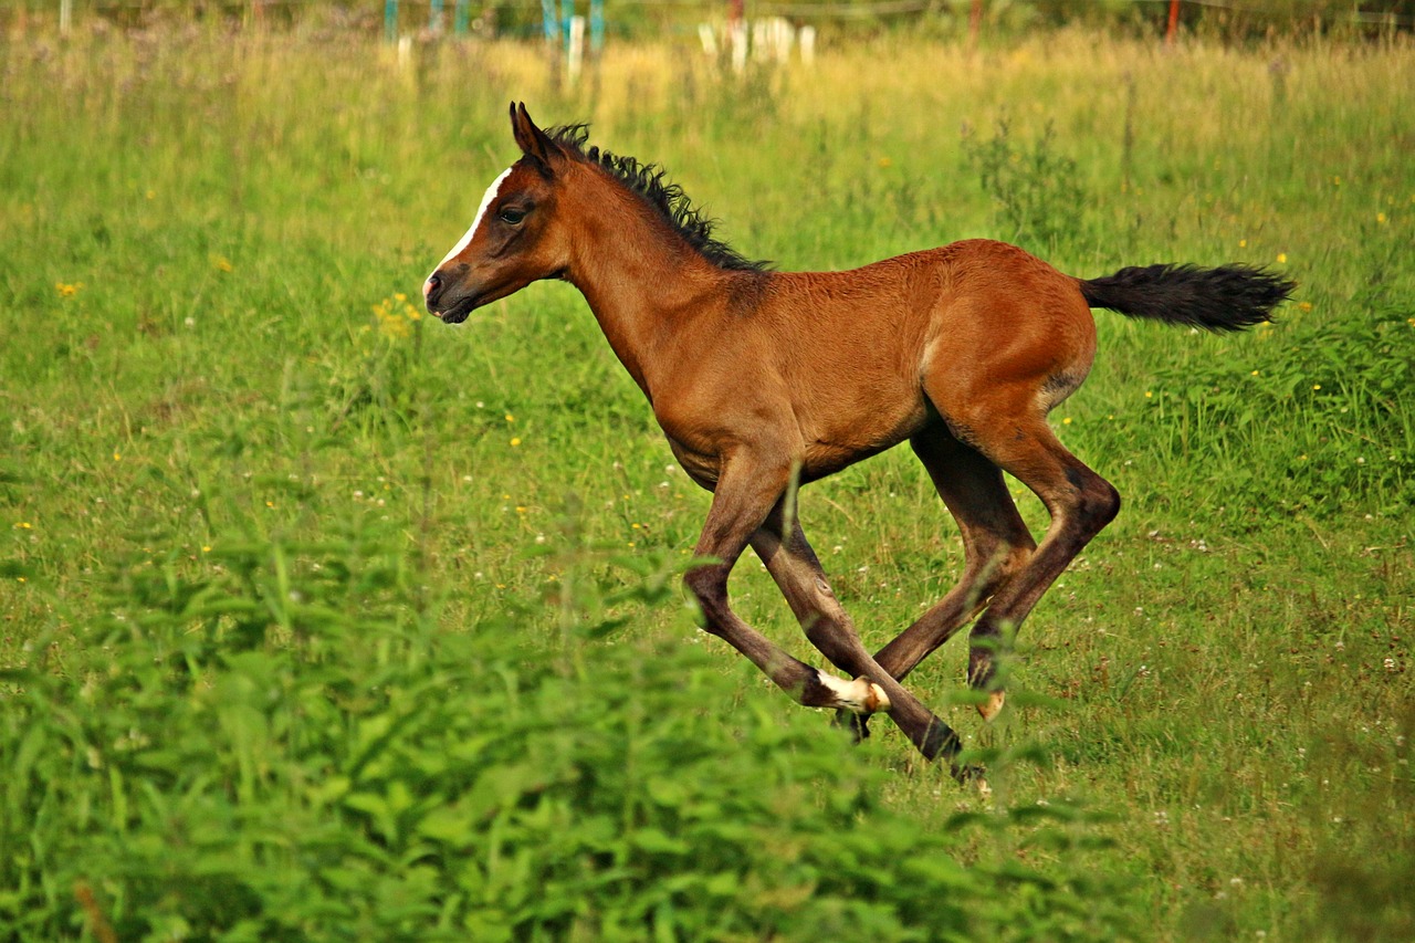
[[[795,520],[794,494],[784,496],[751,537],[751,545],[767,565],[791,610],[821,653],[849,674],[867,678],[886,698],[890,718],[928,759],[942,756],[949,760],[958,779],[972,777],[976,770],[959,769],[954,762],[962,748],[958,733],[938,719],[913,694],[880,667],[860,643],[855,624],[845,613],[811,544]],[[857,729],[863,729],[863,715]]]

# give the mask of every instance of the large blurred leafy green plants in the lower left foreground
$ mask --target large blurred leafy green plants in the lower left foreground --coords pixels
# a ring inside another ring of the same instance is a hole
[[[10,939],[1121,926],[1115,888],[1084,872],[949,851],[976,825],[1054,850],[1081,810],[921,828],[824,718],[777,698],[730,707],[739,681],[717,653],[607,641],[613,626],[584,613],[661,603],[671,571],[659,559],[604,600],[579,572],[591,562],[567,568],[574,589],[468,630],[443,627],[403,558],[361,534],[116,566],[85,654],[51,664],[41,639],[4,673]],[[565,630],[556,657],[518,641],[546,616]]]

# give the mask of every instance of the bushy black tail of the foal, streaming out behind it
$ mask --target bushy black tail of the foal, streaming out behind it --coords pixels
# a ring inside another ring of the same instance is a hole
[[[1272,320],[1272,309],[1298,285],[1262,269],[1221,265],[1149,265],[1081,282],[1091,307],[1129,317],[1190,324],[1206,331],[1237,331]]]

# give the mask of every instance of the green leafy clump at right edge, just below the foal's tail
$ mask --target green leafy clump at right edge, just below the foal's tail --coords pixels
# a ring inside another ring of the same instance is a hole
[[[1231,357],[1186,357],[1155,375],[1159,428],[1194,426],[1234,504],[1339,513],[1415,504],[1415,303],[1365,292],[1360,316],[1295,310]],[[1274,432],[1281,430],[1276,438]],[[1187,435],[1187,433],[1186,433]],[[1281,483],[1281,486],[1279,486]],[[1276,486],[1276,487],[1275,487]]]

